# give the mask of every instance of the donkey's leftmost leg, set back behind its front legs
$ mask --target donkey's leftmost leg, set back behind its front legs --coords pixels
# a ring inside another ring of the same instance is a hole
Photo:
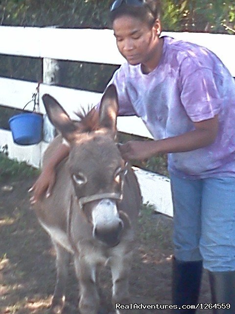
[[[60,314],[63,311],[65,303],[65,289],[69,271],[70,253],[55,241],[54,247],[56,250],[57,276],[51,311],[52,313]]]

